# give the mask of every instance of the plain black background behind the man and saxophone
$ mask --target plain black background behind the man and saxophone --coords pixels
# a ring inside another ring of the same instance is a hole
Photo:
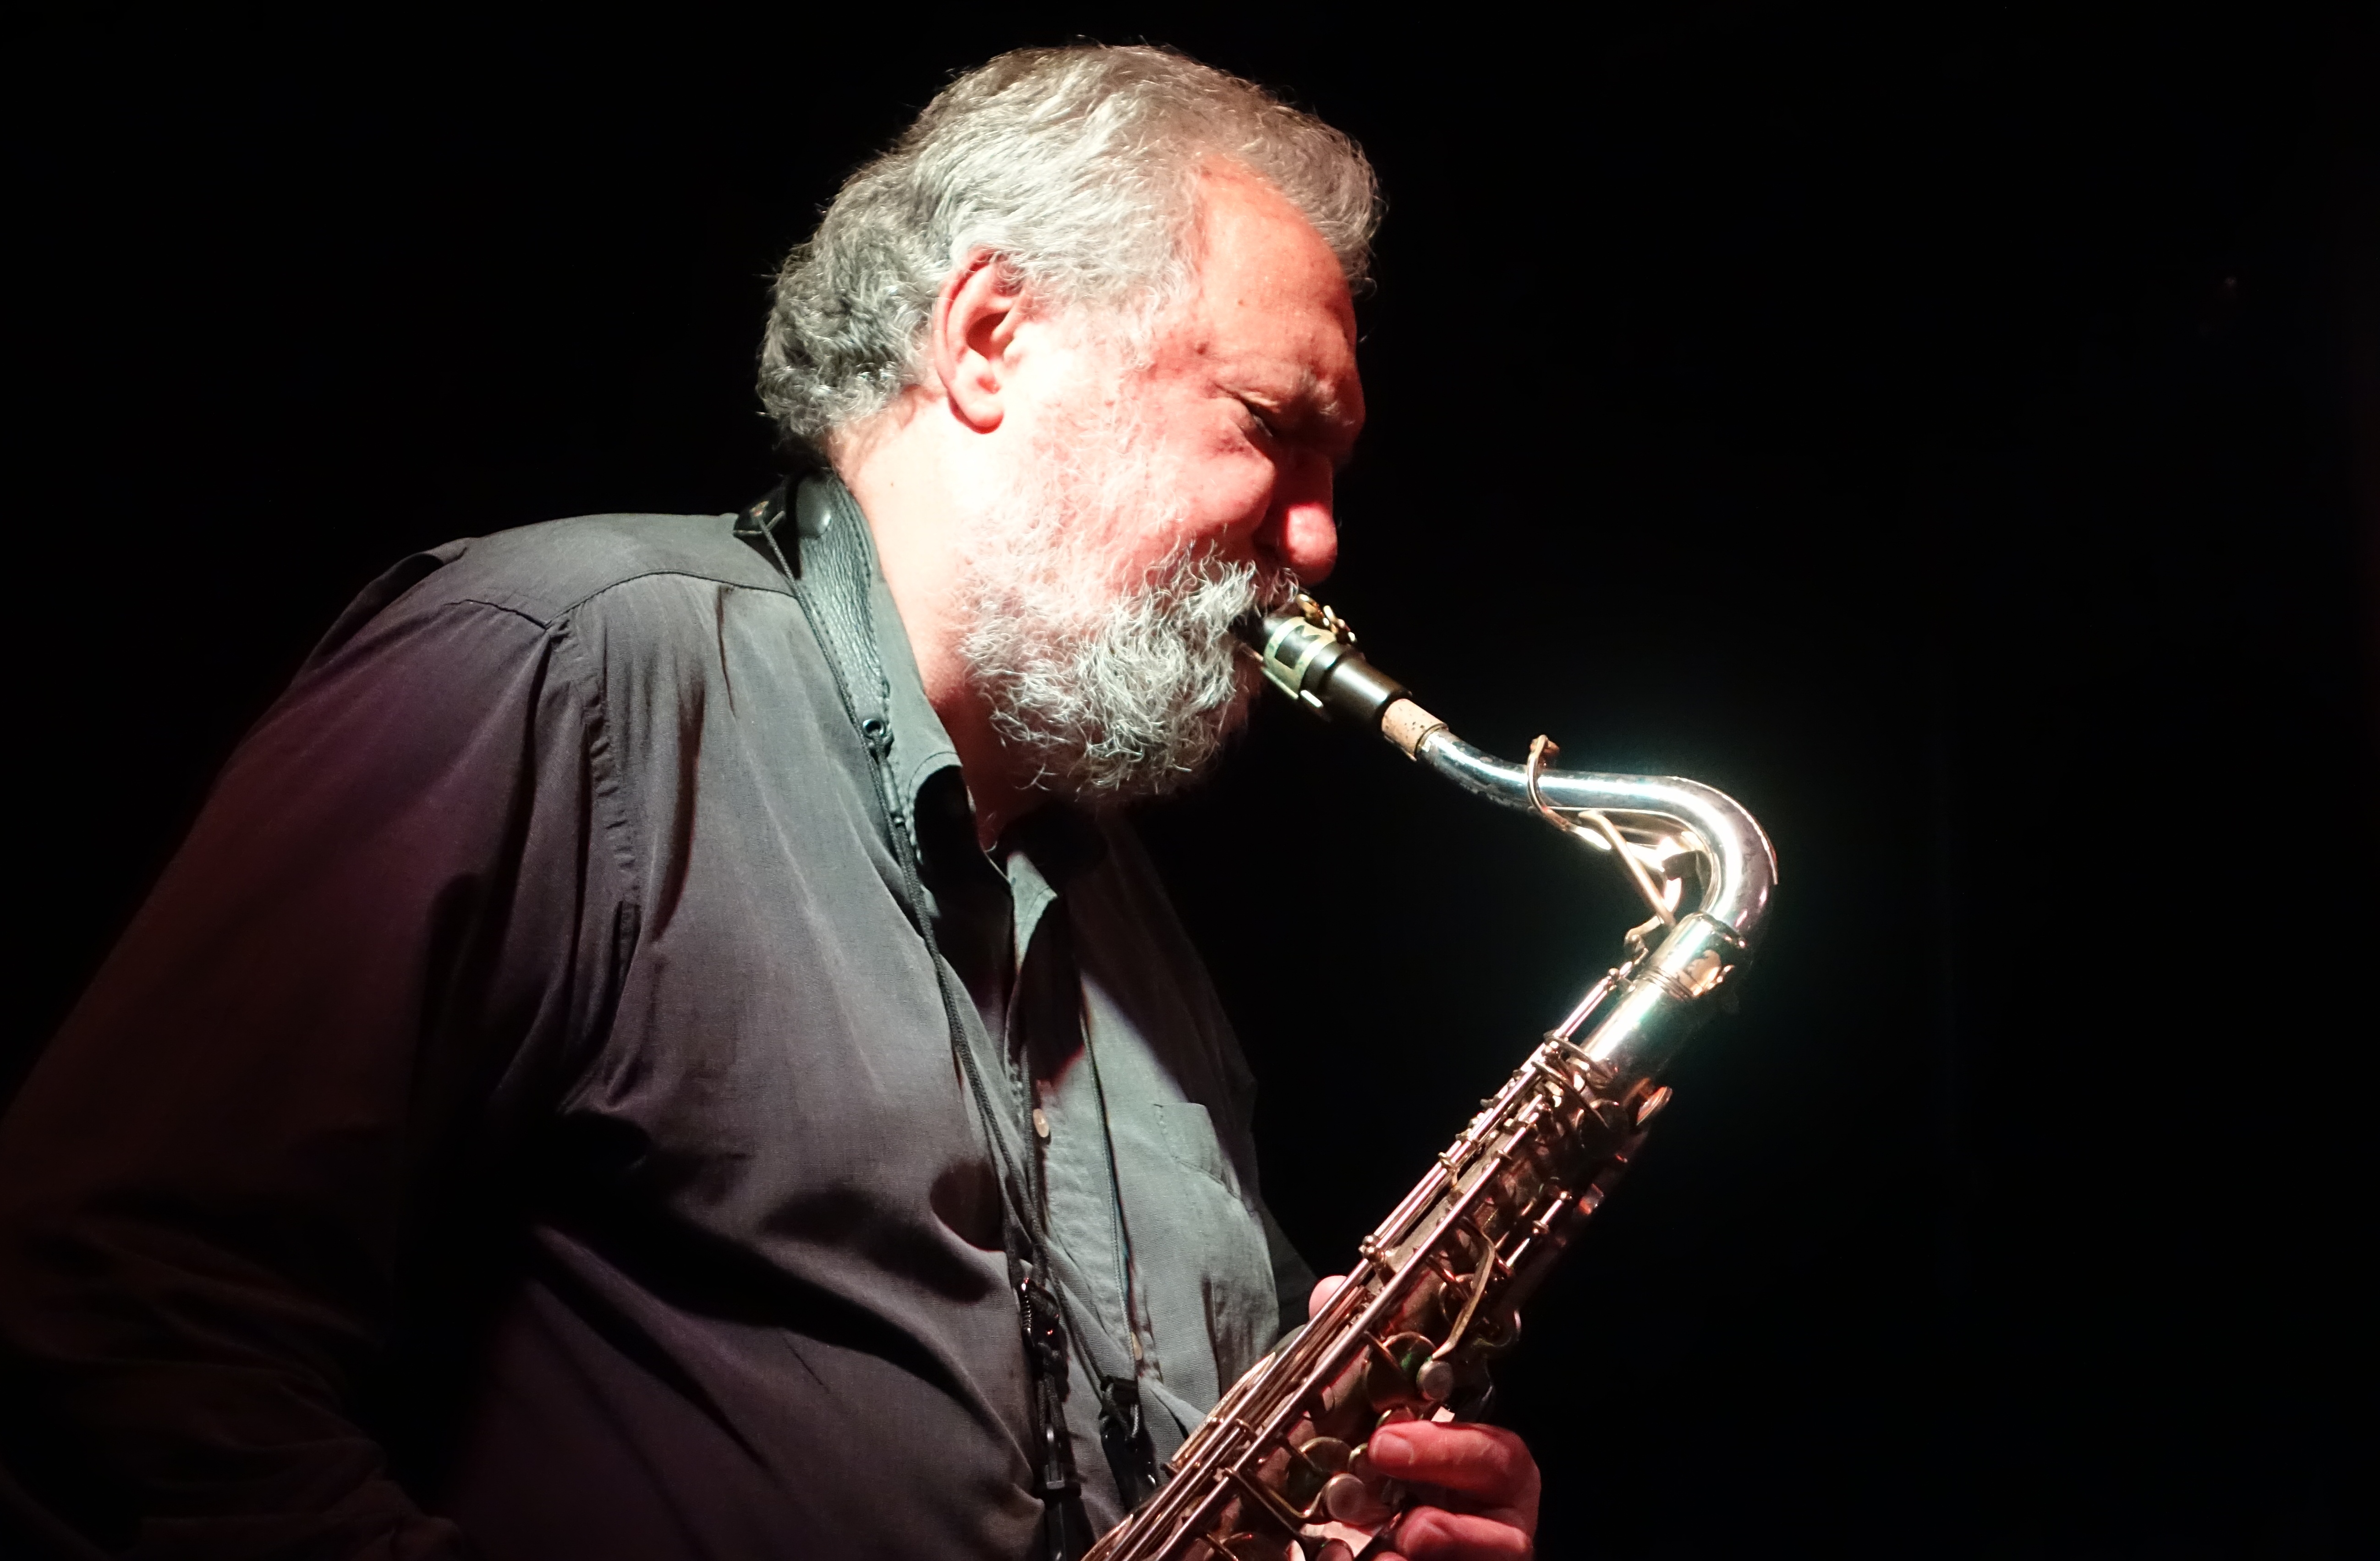
[[[1388,188],[1323,595],[1473,740],[1783,857],[1504,1371],[1542,1551],[2373,1554],[2380,62],[2073,10],[21,29],[10,1068],[352,590],[747,502],[838,178],[1000,48],[1166,40]],[[1326,1268],[1628,921],[1288,709],[1147,835]]]

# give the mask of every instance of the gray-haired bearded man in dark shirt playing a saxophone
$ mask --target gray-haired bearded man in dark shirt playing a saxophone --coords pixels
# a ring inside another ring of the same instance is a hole
[[[10,1509],[140,1556],[1021,1556],[1304,1311],[1116,807],[1364,416],[1371,174],[1159,50],[950,86],[778,278],[826,469],[407,559],[0,1130]],[[1526,1554],[1509,1433],[1373,1454]],[[1402,1466],[1399,1466],[1402,1456]]]

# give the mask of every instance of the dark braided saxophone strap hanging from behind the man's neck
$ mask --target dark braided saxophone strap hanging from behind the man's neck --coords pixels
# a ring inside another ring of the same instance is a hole
[[[983,1121],[983,1137],[1000,1168],[1000,1206],[1007,1228],[1009,1287],[1016,1294],[1016,1321],[1023,1335],[1028,1409],[1033,1456],[1038,1459],[1040,1497],[1045,1506],[1042,1544],[1050,1561],[1076,1561],[1090,1549],[1090,1516],[1083,1511],[1083,1482],[1073,1468],[1073,1437],[1066,1435],[1066,1302],[1057,1290],[1057,1273],[1050,1268],[1050,1233],[1038,1218],[1033,1183],[1019,1173],[1009,1159],[992,1116],[990,1092],[983,1087],[983,1068],[976,1049],[966,1042],[966,1023],[959,1018],[959,995],[952,990],[950,968],[933,935],[933,916],[926,909],[926,888],[919,878],[916,840],[909,835],[909,814],[895,795],[892,771],[892,685],[885,681],[883,654],[876,650],[876,626],[869,612],[869,581],[876,576],[876,554],[866,521],[828,476],[812,476],[793,490],[778,483],[762,502],[752,504],[735,535],[750,543],[762,557],[776,564],[785,583],[793,585],[795,602],[809,619],[826,666],[835,676],[835,695],[843,714],[850,716],[859,745],[869,754],[876,776],[876,809],[892,859],[902,871],[902,895],[909,921],[926,940],[926,961],[933,966],[935,988],[942,997],[942,1018],[950,1026],[950,1049],[966,1078],[966,1092],[976,1102]],[[793,519],[793,552],[781,540],[783,521]],[[1104,1409],[1107,1394],[1102,1394]],[[1138,1430],[1138,1394],[1133,1399]],[[1102,1413],[1102,1442],[1104,1442]],[[1130,1497],[1128,1497],[1130,1499]]]

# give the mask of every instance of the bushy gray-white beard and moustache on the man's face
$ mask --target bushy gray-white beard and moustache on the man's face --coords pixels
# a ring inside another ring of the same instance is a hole
[[[1183,528],[1133,433],[1109,402],[1040,438],[978,497],[962,559],[959,654],[992,731],[1031,785],[1092,807],[1169,792],[1216,757],[1257,685],[1230,626],[1297,588],[1204,547],[1119,585],[1097,538]]]

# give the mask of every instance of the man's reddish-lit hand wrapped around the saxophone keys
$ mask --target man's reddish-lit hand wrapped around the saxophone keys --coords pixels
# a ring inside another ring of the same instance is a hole
[[[1347,1280],[1314,1287],[1307,1316]],[[1499,1425],[1409,1421],[1371,1437],[1371,1461],[1418,1502],[1397,1525],[1392,1556],[1380,1561],[1514,1561],[1537,1535],[1537,1461]]]

